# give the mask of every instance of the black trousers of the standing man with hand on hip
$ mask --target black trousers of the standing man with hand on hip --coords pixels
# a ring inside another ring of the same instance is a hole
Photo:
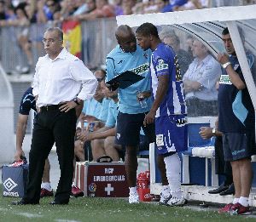
[[[29,152],[28,182],[23,200],[39,202],[44,162],[55,143],[61,168],[55,201],[68,202],[73,182],[75,110],[68,112],[61,112],[58,109],[42,111],[35,118],[31,151]]]

